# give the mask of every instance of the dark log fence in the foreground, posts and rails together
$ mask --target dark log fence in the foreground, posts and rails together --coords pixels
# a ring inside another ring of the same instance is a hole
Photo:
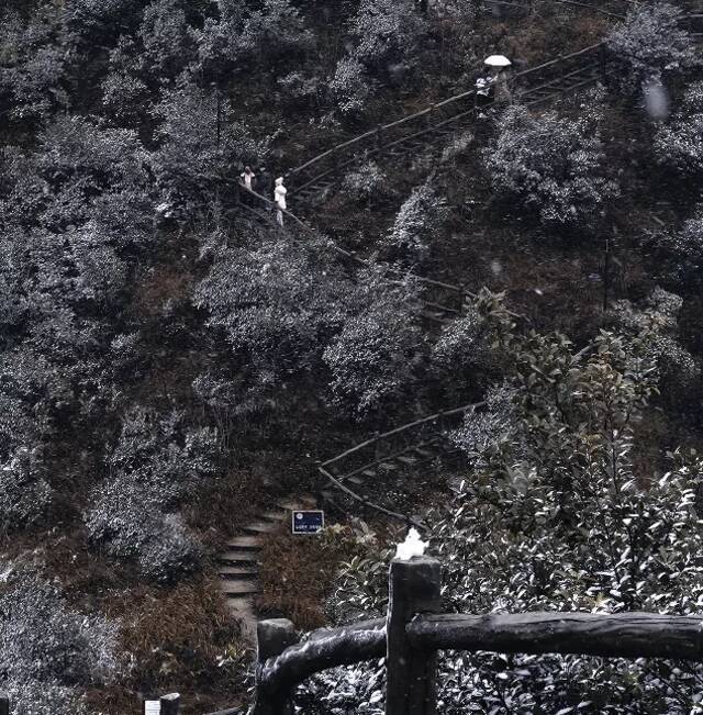
[[[259,622],[250,715],[291,715],[294,689],[310,675],[383,657],[387,715],[436,714],[438,650],[703,660],[703,616],[446,614],[439,588],[439,561],[394,560],[386,618],[316,630],[302,643],[290,621]]]

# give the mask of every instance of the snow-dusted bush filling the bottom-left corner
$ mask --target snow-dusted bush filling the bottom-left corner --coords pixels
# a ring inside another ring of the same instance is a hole
[[[33,565],[2,565],[0,672],[16,715],[87,715],[82,691],[120,670],[118,624],[75,610]]]

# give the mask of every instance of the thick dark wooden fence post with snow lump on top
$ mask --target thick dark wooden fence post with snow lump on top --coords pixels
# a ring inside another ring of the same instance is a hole
[[[439,561],[414,557],[394,559],[389,573],[386,624],[388,686],[386,715],[435,715],[437,653],[412,648],[405,630],[419,613],[438,613]]]

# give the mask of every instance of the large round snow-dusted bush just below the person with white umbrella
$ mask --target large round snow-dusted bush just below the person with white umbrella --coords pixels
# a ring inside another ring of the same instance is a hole
[[[511,107],[483,153],[496,194],[536,213],[545,225],[593,226],[617,186],[604,176],[598,118],[537,116]]]

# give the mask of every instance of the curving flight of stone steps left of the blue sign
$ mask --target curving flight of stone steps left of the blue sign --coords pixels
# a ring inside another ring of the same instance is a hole
[[[294,511],[314,509],[316,500],[310,494],[281,499],[261,510],[239,536],[232,537],[217,556],[220,590],[226,599],[230,613],[242,624],[245,638],[256,638],[256,608],[254,600],[260,593],[258,566],[266,538],[291,523]]]

